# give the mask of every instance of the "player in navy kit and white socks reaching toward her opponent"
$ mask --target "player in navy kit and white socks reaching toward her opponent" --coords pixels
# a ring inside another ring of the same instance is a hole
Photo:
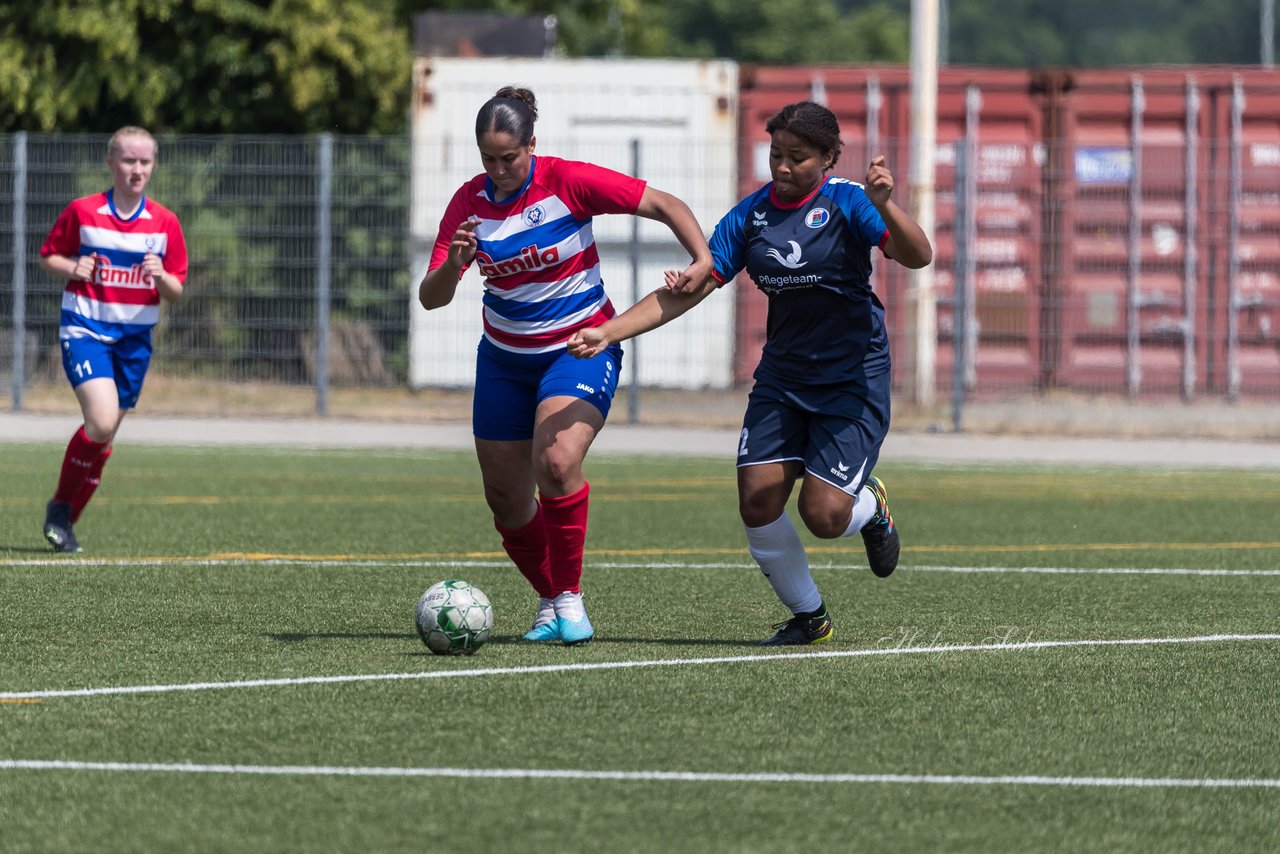
[[[872,475],[888,433],[890,355],[870,251],[918,269],[933,248],[892,201],[883,156],[872,160],[864,184],[827,177],[841,146],[831,110],[788,104],[765,131],[773,181],[717,224],[710,277],[668,273],[666,287],[579,330],[568,351],[594,357],[680,316],[746,269],[769,311],[737,447],[739,511],[751,557],[792,613],[763,643],[812,644],[829,640],[833,626],[786,504],[804,475],[800,517],[815,536],[860,533],[877,576],[897,566],[897,525],[884,484]]]

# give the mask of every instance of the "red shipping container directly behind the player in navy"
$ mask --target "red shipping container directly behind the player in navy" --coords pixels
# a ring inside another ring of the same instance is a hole
[[[955,142],[965,134],[965,97],[982,96],[977,129],[978,222],[975,312],[978,384],[1027,384],[1039,347],[1041,114],[1028,92],[1027,73],[1006,69],[948,68],[938,79],[937,233],[934,284],[938,293],[938,375],[950,383],[955,260]],[[872,101],[878,95],[878,105]],[[910,207],[910,86],[906,68],[814,67],[750,68],[741,74],[740,193],[769,179],[764,124],[783,105],[820,100],[840,120],[845,147],[832,174],[863,181],[872,156],[883,154],[893,172],[895,201]],[[876,147],[876,151],[870,150]],[[891,347],[908,346],[908,273],[873,256],[873,287],[884,302]],[[735,379],[745,382],[759,361],[765,301],[745,277],[737,283]]]

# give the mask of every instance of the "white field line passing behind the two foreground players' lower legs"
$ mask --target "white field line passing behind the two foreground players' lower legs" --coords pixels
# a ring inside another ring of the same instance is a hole
[[[56,566],[56,567],[138,567],[138,566],[316,566],[316,567],[420,567],[420,568],[490,568],[509,567],[507,560],[430,560],[430,558],[315,558],[315,557],[228,557],[228,558],[114,558],[114,560],[84,560],[84,558],[29,558],[0,561],[0,567],[12,566]],[[746,562],[682,562],[682,561],[591,561],[588,570],[755,570],[754,563]],[[814,563],[815,570],[852,570],[865,571],[864,565],[822,565]],[[1280,576],[1276,570],[1206,570],[1193,567],[1140,567],[1140,566],[1103,566],[1103,567],[1078,567],[1078,566],[901,566],[899,571],[905,572],[955,572],[955,574],[1015,574],[1015,575],[1192,575],[1192,576]]]

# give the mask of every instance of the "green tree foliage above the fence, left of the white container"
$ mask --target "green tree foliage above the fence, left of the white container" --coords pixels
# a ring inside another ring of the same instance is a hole
[[[9,3],[0,131],[398,132],[411,59],[387,4]]]

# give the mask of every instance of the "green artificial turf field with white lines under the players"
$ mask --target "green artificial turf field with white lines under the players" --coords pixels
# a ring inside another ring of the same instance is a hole
[[[782,620],[730,460],[593,457],[598,636],[534,609],[468,453],[0,446],[4,851],[1280,848],[1280,476],[882,465],[904,536],[809,540]],[[426,586],[494,639],[436,657]]]

